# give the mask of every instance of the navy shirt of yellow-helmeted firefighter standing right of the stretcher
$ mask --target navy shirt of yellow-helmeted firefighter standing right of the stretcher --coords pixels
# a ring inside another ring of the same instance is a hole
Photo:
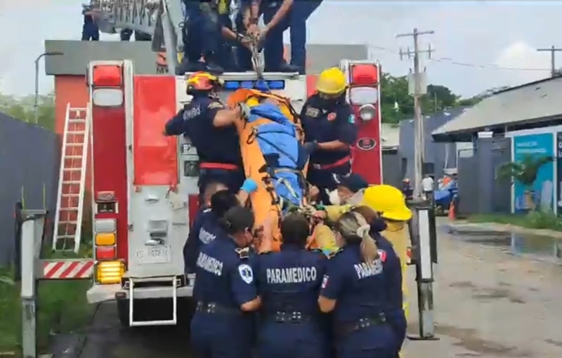
[[[301,122],[306,142],[332,142],[339,140],[353,145],[357,140],[355,114],[344,100],[327,102],[318,94],[306,100],[301,111]],[[346,150],[317,150],[311,156],[313,164],[333,164],[351,154]]]

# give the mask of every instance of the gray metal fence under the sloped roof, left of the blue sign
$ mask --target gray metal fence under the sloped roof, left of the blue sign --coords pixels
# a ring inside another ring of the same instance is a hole
[[[497,168],[511,161],[511,139],[494,138],[487,152],[459,153],[457,173],[459,213],[481,213],[483,201],[490,202],[495,213],[511,212],[511,185],[496,178]],[[482,151],[483,149],[478,149]],[[491,161],[491,163],[488,162]],[[490,187],[487,187],[490,185]],[[487,190],[488,189],[488,190]],[[491,192],[491,199],[488,193]]]

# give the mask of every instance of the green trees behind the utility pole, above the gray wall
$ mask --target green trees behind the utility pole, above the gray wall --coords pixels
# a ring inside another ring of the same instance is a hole
[[[421,97],[421,112],[431,114],[457,107],[459,96],[440,85],[427,86],[427,94]],[[381,77],[381,117],[386,123],[398,123],[414,117],[414,98],[408,92],[406,76],[394,77],[383,73]]]

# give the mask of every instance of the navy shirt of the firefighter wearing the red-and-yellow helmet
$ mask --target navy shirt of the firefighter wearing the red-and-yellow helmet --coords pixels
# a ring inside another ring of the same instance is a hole
[[[213,125],[216,112],[224,105],[216,99],[196,96],[176,116],[166,123],[169,135],[190,138],[203,163],[242,166],[240,141],[234,126],[217,128]]]

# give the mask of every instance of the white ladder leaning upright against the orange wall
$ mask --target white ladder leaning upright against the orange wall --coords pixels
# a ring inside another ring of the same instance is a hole
[[[88,161],[89,108],[67,105],[63,149],[60,154],[53,251],[78,253]],[[74,247],[69,247],[74,245]]]

